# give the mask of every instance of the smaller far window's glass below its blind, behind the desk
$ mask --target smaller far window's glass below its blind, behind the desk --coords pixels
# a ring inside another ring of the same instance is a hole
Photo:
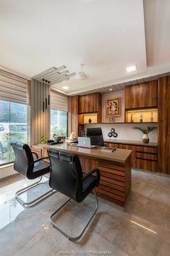
[[[51,139],[54,134],[67,136],[67,111],[51,110]]]

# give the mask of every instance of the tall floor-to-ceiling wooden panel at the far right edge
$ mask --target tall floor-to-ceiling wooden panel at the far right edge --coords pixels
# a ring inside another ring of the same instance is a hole
[[[170,175],[170,76],[158,79],[158,171]]]

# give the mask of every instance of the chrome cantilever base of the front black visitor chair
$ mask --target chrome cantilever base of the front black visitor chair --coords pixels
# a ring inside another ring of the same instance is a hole
[[[95,206],[95,210],[93,211],[92,215],[90,216],[90,218],[88,219],[87,223],[85,224],[84,228],[82,228],[81,233],[78,236],[70,236],[67,231],[64,231],[61,227],[57,226],[56,223],[54,223],[54,216],[61,210],[63,209],[71,200],[68,199],[66,202],[64,202],[63,205],[61,205],[61,207],[59,207],[59,209],[57,209],[50,217],[50,222],[51,224],[54,226],[54,228],[56,228],[58,231],[61,232],[61,234],[64,234],[64,236],[67,236],[69,238],[69,240],[72,241],[76,241],[78,239],[80,239],[80,237],[82,236],[82,234],[85,232],[85,229],[88,228],[88,225],[90,224],[90,221],[93,219],[93,216],[95,215],[95,212],[98,210],[98,197],[96,195],[95,189],[93,189],[93,194],[95,195],[95,199],[96,199],[96,206]]]

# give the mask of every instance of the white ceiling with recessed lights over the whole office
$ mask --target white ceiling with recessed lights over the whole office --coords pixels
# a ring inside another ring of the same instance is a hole
[[[87,80],[54,86],[75,94],[168,72],[169,28],[169,0],[0,0],[0,65],[33,77],[83,63]]]

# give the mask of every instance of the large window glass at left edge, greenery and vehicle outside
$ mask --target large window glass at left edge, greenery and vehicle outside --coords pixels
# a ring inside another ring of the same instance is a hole
[[[27,105],[0,100],[0,165],[14,161],[11,141],[27,143]]]

